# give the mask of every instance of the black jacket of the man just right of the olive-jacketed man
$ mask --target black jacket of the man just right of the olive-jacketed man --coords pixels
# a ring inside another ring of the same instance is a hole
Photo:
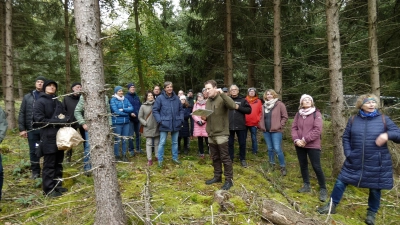
[[[251,106],[242,96],[231,97],[239,105],[238,109],[229,110],[229,130],[246,130],[245,114],[251,113]]]

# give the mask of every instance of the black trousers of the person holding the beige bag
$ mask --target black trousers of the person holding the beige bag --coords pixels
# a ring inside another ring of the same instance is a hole
[[[62,182],[54,179],[62,178],[63,160],[64,151],[57,151],[53,154],[44,155],[42,179],[43,191],[45,194],[50,193],[55,186],[61,187]]]

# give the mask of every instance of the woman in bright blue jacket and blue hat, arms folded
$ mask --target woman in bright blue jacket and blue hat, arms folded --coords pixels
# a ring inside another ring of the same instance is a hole
[[[127,162],[126,157],[126,140],[120,136],[127,137],[129,135],[129,115],[133,112],[131,103],[124,97],[124,91],[121,86],[114,88],[114,95],[110,101],[112,113],[112,126],[114,128],[115,142],[114,155],[116,160],[121,160],[119,155],[119,142],[122,142],[122,161]]]

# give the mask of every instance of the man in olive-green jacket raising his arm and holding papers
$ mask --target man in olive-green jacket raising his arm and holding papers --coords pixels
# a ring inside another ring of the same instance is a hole
[[[233,186],[233,167],[229,156],[229,109],[237,109],[235,102],[227,96],[221,88],[217,89],[215,80],[209,80],[204,83],[208,100],[206,109],[213,113],[207,118],[206,131],[210,154],[213,160],[214,177],[206,181],[207,185],[222,182],[222,165],[224,165],[225,184],[221,189],[229,190]]]

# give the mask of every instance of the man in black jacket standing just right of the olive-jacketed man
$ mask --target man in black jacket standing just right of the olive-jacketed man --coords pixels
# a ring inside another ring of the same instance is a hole
[[[230,88],[232,100],[238,105],[237,109],[229,110],[229,156],[233,162],[234,158],[234,141],[235,133],[239,142],[239,158],[243,167],[247,167],[246,163],[246,118],[245,114],[251,113],[251,106],[246,98],[239,96],[239,88],[232,85]]]

